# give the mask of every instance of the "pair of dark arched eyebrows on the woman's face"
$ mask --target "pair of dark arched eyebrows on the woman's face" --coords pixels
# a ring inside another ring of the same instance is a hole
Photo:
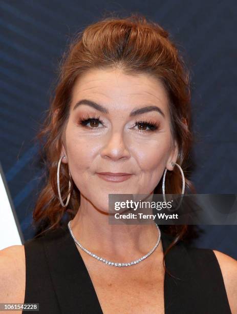
[[[87,106],[90,106],[100,112],[103,112],[103,113],[109,113],[109,110],[107,110],[105,107],[93,102],[93,101],[90,101],[88,99],[82,99],[80,100],[79,102],[76,103],[76,105],[74,106],[73,110],[75,110],[77,107],[79,107],[80,105],[87,105]],[[134,109],[130,112],[130,115],[129,116],[135,116],[135,115],[138,115],[138,114],[142,114],[142,113],[146,113],[146,112],[150,112],[150,111],[157,111],[159,112],[163,117],[165,117],[165,114],[164,112],[157,106],[154,106],[154,105],[150,105],[150,106],[146,106],[146,107],[142,107],[142,108],[139,108],[139,109]]]

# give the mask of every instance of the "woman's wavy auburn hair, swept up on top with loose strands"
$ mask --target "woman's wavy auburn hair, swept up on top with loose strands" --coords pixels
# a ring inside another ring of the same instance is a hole
[[[193,144],[191,131],[190,73],[181,52],[169,33],[159,24],[148,21],[141,14],[119,18],[110,16],[91,24],[76,34],[64,52],[50,108],[41,129],[36,135],[40,142],[40,155],[44,160],[45,185],[40,190],[33,211],[33,224],[38,235],[67,224],[80,206],[80,191],[71,181],[71,198],[67,208],[62,207],[57,192],[57,164],[60,158],[63,132],[66,128],[72,88],[76,79],[90,69],[121,68],[126,74],[149,73],[165,87],[169,100],[172,139],[178,144],[177,163],[185,175],[185,188],[195,193],[187,179],[190,150]],[[181,193],[181,175],[178,167],[166,174],[166,192]],[[67,199],[69,180],[68,164],[60,167],[60,191]],[[162,193],[162,182],[155,193]],[[164,225],[161,230],[173,235],[174,241],[167,252],[188,233],[187,225]],[[163,259],[164,264],[164,259]],[[165,268],[166,269],[166,268]]]

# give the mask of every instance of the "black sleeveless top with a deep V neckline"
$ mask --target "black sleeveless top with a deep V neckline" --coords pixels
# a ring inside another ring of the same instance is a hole
[[[161,231],[164,251],[172,240]],[[103,313],[76,246],[68,227],[25,242],[24,303],[39,303],[42,314]],[[165,272],[165,314],[231,314],[222,272],[211,249],[180,241],[167,253],[165,265],[177,277]]]

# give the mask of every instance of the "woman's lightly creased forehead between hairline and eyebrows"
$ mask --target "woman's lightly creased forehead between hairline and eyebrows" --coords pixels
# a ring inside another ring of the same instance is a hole
[[[139,104],[153,104],[168,111],[168,97],[161,82],[146,73],[130,75],[121,69],[92,69],[79,76],[72,90],[71,105],[82,98],[125,110]]]

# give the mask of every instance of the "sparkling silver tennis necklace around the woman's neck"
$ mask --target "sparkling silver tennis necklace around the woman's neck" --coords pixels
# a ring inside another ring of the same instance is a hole
[[[158,229],[158,233],[159,233],[159,234],[158,234],[157,243],[156,243],[156,245],[154,246],[154,248],[153,248],[152,250],[150,250],[147,254],[145,254],[143,257],[141,257],[140,259],[138,259],[138,260],[136,260],[136,261],[133,261],[133,262],[130,262],[130,263],[115,263],[115,262],[111,262],[111,261],[108,261],[108,260],[106,260],[106,259],[103,259],[103,258],[97,256],[96,254],[93,254],[92,252],[90,252],[90,251],[87,250],[86,248],[84,248],[84,247],[75,239],[70,224],[71,224],[71,221],[69,221],[69,223],[68,223],[68,228],[69,228],[69,231],[70,231],[70,233],[71,233],[71,235],[72,235],[72,238],[73,238],[73,240],[75,241],[75,243],[76,243],[84,252],[88,253],[90,256],[92,256],[93,258],[97,259],[98,261],[103,262],[103,263],[106,264],[106,265],[115,266],[115,267],[132,266],[132,265],[138,264],[138,263],[140,263],[141,261],[145,260],[150,254],[152,254],[152,253],[155,251],[155,249],[157,248],[157,246],[158,246],[158,244],[159,244],[159,242],[160,242],[160,238],[161,238],[160,228],[159,228],[158,225],[155,223],[155,224],[156,224],[156,227],[157,227],[157,229]]]

